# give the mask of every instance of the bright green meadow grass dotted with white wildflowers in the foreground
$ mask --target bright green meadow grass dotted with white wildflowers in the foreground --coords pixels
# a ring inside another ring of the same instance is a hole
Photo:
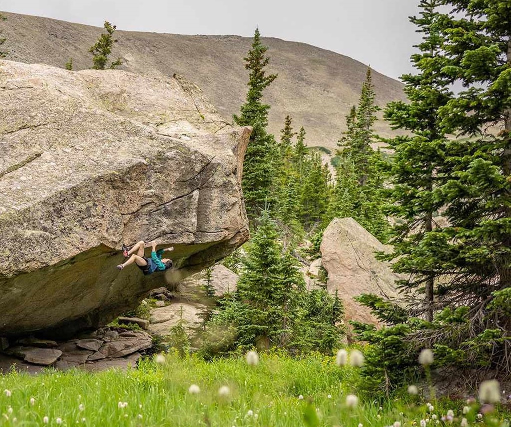
[[[425,407],[407,404],[408,398],[390,400],[379,409],[380,404],[366,396],[357,408],[346,408],[345,396],[356,394],[357,376],[354,368],[337,367],[334,358],[311,355],[293,360],[276,354],[261,357],[257,366],[243,359],[180,360],[173,353],[164,364],[144,361],[128,372],[13,372],[0,376],[0,425],[43,425],[47,416],[48,425],[60,418],[61,425],[68,426],[383,427],[400,421],[411,427],[427,417]],[[188,392],[191,384],[200,387],[199,394]],[[225,385],[230,395],[218,396]],[[119,402],[127,406],[119,408]],[[448,401],[442,408],[435,402],[435,413],[438,418],[447,409],[460,414],[461,406]],[[475,419],[476,412],[467,418]],[[496,426],[503,415],[497,418]],[[450,425],[459,426],[459,420]]]

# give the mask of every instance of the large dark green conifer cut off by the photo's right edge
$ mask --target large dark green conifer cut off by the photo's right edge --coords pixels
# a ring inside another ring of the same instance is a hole
[[[463,361],[491,360],[511,375],[511,3],[446,3],[454,10],[439,25],[442,73],[464,90],[439,109],[446,131],[462,137],[446,147],[446,182],[437,192],[450,224],[435,236],[433,267],[446,274],[437,294],[452,310],[467,307],[470,327],[458,326],[456,342]],[[459,351],[450,348],[447,356]]]

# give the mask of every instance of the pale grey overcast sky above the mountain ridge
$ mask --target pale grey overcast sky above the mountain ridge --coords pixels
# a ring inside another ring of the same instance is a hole
[[[387,76],[411,70],[416,0],[0,0],[0,10],[119,30],[261,35],[350,56]]]

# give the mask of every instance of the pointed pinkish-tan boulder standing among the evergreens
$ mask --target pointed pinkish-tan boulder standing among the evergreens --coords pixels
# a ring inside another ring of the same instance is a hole
[[[394,274],[388,263],[375,258],[375,251],[388,248],[353,218],[335,218],[323,233],[321,262],[328,272],[327,288],[337,290],[344,304],[345,319],[378,324],[370,310],[356,302],[360,294],[397,298]]]

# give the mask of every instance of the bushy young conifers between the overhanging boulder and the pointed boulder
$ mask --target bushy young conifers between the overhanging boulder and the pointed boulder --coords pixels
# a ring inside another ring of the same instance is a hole
[[[219,313],[206,327],[213,326],[212,338],[218,342],[220,334],[226,347],[219,348],[207,337],[203,345],[215,355],[253,346],[286,348],[293,353],[317,348],[331,351],[342,333],[338,326],[340,300],[326,292],[307,293],[299,265],[289,252],[283,253],[268,211],[258,223],[243,260],[237,291],[220,301]]]

